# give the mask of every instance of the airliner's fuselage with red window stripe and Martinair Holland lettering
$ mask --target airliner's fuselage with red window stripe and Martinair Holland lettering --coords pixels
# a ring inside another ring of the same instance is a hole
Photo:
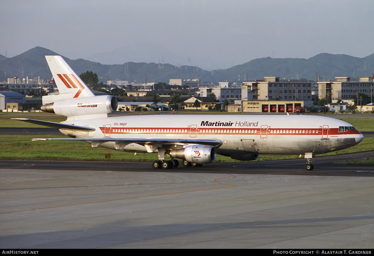
[[[72,124],[71,121],[63,123]],[[90,132],[61,132],[76,138],[177,138],[222,141],[217,154],[313,154],[354,146],[362,134],[347,122],[309,115],[143,115],[76,120]],[[115,143],[100,146],[116,149]],[[128,144],[121,151],[147,152]]]

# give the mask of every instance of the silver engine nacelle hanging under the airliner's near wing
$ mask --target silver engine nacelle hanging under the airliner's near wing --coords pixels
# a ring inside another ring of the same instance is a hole
[[[215,147],[208,145],[190,145],[183,149],[170,151],[170,156],[191,163],[213,163],[217,156]]]

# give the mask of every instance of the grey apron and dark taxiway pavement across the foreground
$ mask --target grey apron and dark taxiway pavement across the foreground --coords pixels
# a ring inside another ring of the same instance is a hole
[[[373,157],[373,152],[350,158]],[[372,166],[0,161],[0,248],[373,248]]]

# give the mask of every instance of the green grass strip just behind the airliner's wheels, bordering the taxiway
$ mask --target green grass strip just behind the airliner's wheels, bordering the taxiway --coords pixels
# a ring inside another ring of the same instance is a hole
[[[157,159],[157,153],[128,153],[103,147],[92,148],[83,141],[31,141],[35,137],[63,138],[64,135],[5,135],[0,134],[0,159],[31,159],[31,160],[89,160],[89,161],[139,161],[151,162]],[[319,156],[374,150],[374,138],[364,140],[353,147]],[[105,153],[111,153],[105,159]],[[301,156],[303,157],[303,156]],[[299,158],[299,155],[263,155],[258,160],[278,160]],[[242,162],[230,157],[217,155],[215,162]]]

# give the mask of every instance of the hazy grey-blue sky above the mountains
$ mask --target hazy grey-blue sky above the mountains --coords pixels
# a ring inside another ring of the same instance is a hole
[[[373,0],[0,0],[0,22],[7,57],[35,46],[71,59],[135,49],[107,64],[215,69],[266,56],[374,53]]]

